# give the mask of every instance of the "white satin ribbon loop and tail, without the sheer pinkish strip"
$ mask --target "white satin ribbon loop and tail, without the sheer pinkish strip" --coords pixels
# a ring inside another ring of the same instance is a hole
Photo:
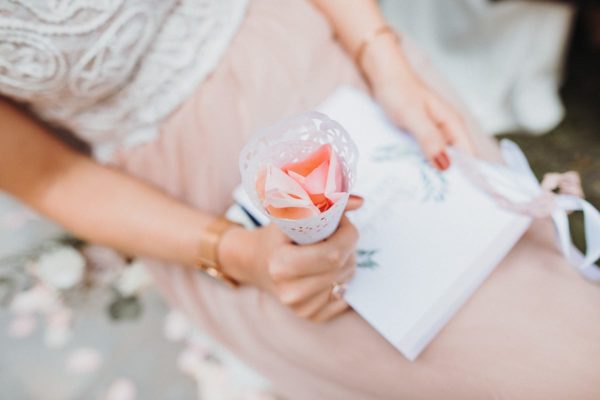
[[[600,258],[600,212],[589,202],[581,197],[578,176],[573,173],[548,174],[542,184],[535,177],[527,158],[514,142],[502,140],[500,142],[502,156],[507,166],[514,172],[525,176],[538,191],[537,200],[540,204],[548,204],[551,200],[549,215],[552,217],[556,228],[557,239],[565,258],[576,265],[581,274],[587,279],[600,281],[600,268],[594,263]],[[558,193],[553,190],[558,189]],[[534,204],[532,202],[531,204]],[[568,213],[582,211],[585,224],[586,252],[583,259],[576,259],[573,254],[573,243],[569,230]]]

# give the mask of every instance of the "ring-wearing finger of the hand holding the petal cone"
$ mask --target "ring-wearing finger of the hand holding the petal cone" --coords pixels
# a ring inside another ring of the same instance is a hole
[[[286,305],[301,304],[322,291],[331,292],[334,282],[348,282],[354,276],[355,271],[355,259],[352,259],[339,271],[281,283],[277,293],[280,301]]]

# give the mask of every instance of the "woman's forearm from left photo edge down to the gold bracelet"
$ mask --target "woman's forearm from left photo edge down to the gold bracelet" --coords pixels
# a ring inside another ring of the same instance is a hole
[[[183,265],[212,218],[69,149],[2,100],[0,189],[81,238]]]

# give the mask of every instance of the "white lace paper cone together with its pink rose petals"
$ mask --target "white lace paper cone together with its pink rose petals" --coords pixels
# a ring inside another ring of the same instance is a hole
[[[255,134],[240,153],[252,204],[298,244],[331,236],[356,178],[358,149],[344,128],[309,112]]]

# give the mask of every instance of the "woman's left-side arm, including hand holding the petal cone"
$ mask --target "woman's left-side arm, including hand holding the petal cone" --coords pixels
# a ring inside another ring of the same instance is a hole
[[[215,218],[75,152],[2,99],[0,190],[81,238],[185,266],[194,265],[203,230]],[[353,199],[350,207],[360,204]],[[308,246],[294,245],[275,224],[231,228],[218,258],[235,280],[271,292],[304,318],[325,321],[347,309],[331,298],[331,285],[354,273],[357,239],[346,217],[331,238]]]

